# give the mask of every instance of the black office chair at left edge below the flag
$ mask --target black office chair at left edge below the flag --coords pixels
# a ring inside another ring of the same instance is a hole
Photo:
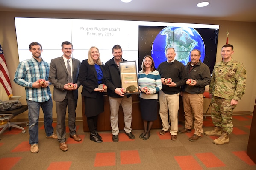
[[[10,97],[9,100],[16,100],[19,99],[21,96],[13,96]],[[6,111],[0,111],[0,121],[4,122],[7,120],[7,123],[4,125],[0,125],[0,129],[3,128],[0,131],[0,135],[7,129],[11,130],[11,127],[15,127],[22,130],[22,133],[26,133],[26,130],[24,130],[23,127],[18,126],[18,124],[25,123],[26,126],[28,126],[27,122],[11,122],[10,120],[14,118],[15,116],[18,116],[19,114],[23,113],[24,111],[28,110],[27,105],[22,105],[20,108],[13,109],[13,110],[6,110]],[[1,138],[0,138],[1,140]]]

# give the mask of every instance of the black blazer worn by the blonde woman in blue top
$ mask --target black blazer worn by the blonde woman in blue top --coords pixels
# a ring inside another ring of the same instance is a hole
[[[103,73],[103,65],[100,65],[100,69]],[[82,96],[96,98],[97,93],[94,91],[98,88],[98,77],[94,65],[88,64],[88,59],[83,60],[79,70],[79,80],[82,88]]]

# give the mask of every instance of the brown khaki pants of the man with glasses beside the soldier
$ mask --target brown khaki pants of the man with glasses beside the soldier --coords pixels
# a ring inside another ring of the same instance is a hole
[[[194,115],[194,134],[203,133],[203,94],[183,93],[183,107],[185,112],[185,128],[191,129]]]

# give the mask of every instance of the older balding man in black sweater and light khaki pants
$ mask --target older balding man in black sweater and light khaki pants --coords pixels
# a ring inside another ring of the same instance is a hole
[[[162,62],[157,71],[159,71],[162,80],[162,90],[159,91],[159,114],[162,119],[162,130],[160,135],[164,135],[168,129],[169,116],[171,120],[171,140],[177,139],[178,133],[178,110],[179,110],[179,92],[180,87],[185,85],[187,80],[187,73],[185,66],[175,60],[174,48],[166,50],[166,62]],[[166,82],[166,79],[171,78],[171,82]]]

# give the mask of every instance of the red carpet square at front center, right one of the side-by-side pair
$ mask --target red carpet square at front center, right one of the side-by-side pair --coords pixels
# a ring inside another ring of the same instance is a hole
[[[140,164],[141,159],[138,150],[128,150],[120,152],[121,164]]]

